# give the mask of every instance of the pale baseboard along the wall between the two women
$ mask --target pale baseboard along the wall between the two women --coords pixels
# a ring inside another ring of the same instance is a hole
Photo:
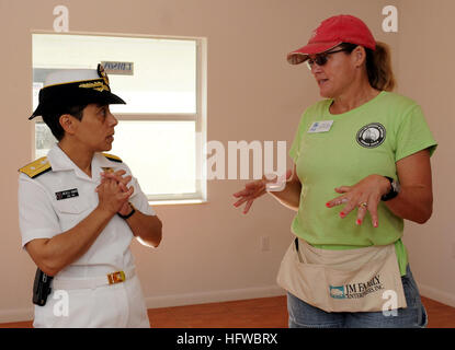
[[[147,308],[172,307],[285,295],[277,285],[146,298]]]

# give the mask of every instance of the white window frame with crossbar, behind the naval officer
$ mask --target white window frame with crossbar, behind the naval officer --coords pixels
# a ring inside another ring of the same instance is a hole
[[[115,113],[118,120],[147,120],[147,121],[195,121],[195,178],[196,191],[193,194],[160,194],[147,195],[150,205],[187,205],[203,203],[207,201],[207,171],[205,162],[205,144],[207,141],[207,38],[205,37],[183,37],[168,35],[140,35],[140,34],[116,34],[116,33],[87,33],[87,32],[68,32],[55,33],[49,31],[33,31],[33,34],[52,34],[52,35],[84,35],[84,36],[112,36],[112,37],[132,37],[132,38],[150,38],[150,39],[178,39],[192,40],[196,43],[196,112],[195,113]],[[32,50],[33,52],[33,50]],[[33,69],[32,69],[33,71]],[[32,79],[33,81],[33,79]],[[32,86],[32,83],[30,84]],[[31,105],[33,105],[31,103]],[[32,113],[31,113],[32,114]],[[43,121],[36,118],[34,121]],[[35,122],[33,124],[33,149],[32,159],[35,158]]]

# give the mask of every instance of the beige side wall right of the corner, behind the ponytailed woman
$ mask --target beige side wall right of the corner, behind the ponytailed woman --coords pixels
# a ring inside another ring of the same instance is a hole
[[[405,0],[400,5],[399,90],[422,105],[439,142],[432,158],[433,217],[424,225],[408,223],[405,242],[421,292],[455,306],[455,2]]]

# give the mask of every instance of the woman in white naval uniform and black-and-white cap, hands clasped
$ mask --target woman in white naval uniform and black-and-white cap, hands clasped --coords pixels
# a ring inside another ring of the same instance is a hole
[[[128,166],[100,153],[112,148],[109,104],[118,103],[102,66],[58,71],[30,117],[43,116],[58,140],[19,177],[22,246],[54,277],[34,327],[150,326],[129,244],[157,247],[161,222]]]

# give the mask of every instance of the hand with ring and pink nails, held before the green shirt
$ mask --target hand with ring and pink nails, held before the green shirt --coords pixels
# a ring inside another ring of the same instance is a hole
[[[357,210],[356,224],[361,225],[365,218],[366,211],[369,211],[372,223],[377,228],[379,222],[377,218],[377,206],[380,197],[390,189],[389,180],[380,175],[369,175],[353,186],[340,186],[334,190],[343,194],[340,197],[329,200],[326,206],[332,208],[345,203],[340,212],[341,219],[345,218],[354,208]]]

